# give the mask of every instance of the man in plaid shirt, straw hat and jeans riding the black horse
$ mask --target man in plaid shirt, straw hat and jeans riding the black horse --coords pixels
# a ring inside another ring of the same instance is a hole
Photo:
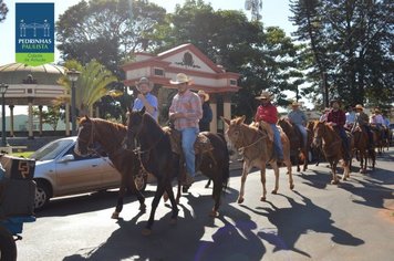
[[[178,73],[176,80],[169,81],[169,83],[178,88],[169,107],[168,116],[174,122],[175,129],[182,133],[182,148],[187,170],[184,185],[188,188],[194,182],[196,175],[194,144],[199,133],[198,122],[203,117],[201,100],[197,93],[189,90],[191,81],[186,74]]]

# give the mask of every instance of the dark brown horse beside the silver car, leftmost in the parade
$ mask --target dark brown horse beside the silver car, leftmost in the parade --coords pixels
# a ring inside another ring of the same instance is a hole
[[[134,152],[125,149],[123,146],[127,135],[127,128],[117,123],[112,123],[101,118],[90,118],[87,116],[80,119],[77,139],[74,152],[76,155],[86,156],[95,153],[93,146],[100,144],[111,159],[111,163],[121,174],[121,187],[117,196],[115,211],[112,213],[113,219],[117,219],[123,209],[123,198],[126,189],[134,192],[139,201],[139,210],[145,211],[145,198],[137,189],[135,178],[141,170],[139,159]]]

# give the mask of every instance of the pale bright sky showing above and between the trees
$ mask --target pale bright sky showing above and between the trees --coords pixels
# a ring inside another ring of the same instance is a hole
[[[17,2],[54,2],[54,17],[58,20],[59,15],[64,13],[70,7],[79,3],[81,0],[3,0],[8,6],[9,12],[7,19],[0,23],[0,65],[13,63],[15,61],[15,3]],[[151,0],[167,10],[173,12],[177,3],[183,4],[185,0]],[[250,18],[250,11],[245,10],[245,0],[205,0],[206,3],[211,3],[215,10],[241,10],[245,11]],[[289,9],[289,0],[262,0],[262,9],[260,14],[261,21],[265,27],[277,25],[286,31],[288,35],[294,31],[289,21],[291,15]],[[55,63],[59,62],[60,52],[55,49]],[[1,81],[1,80],[0,80]],[[6,109],[7,114],[9,109]],[[25,114],[27,108],[24,106],[17,106],[14,114]]]

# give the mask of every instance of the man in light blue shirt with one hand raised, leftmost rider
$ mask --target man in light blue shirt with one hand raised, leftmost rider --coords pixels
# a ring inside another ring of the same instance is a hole
[[[146,112],[157,122],[157,97],[151,93],[153,85],[147,77],[139,79],[135,82],[138,95],[134,101],[133,111],[141,111],[145,107]]]

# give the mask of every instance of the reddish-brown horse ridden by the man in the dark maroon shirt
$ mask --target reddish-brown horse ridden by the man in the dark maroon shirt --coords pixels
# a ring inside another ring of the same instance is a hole
[[[324,122],[315,122],[313,128],[313,144],[314,146],[322,146],[325,159],[330,164],[332,180],[331,184],[338,184],[336,165],[341,163],[343,167],[342,180],[346,180],[350,177],[350,159],[345,160],[344,148],[342,146],[342,138],[333,129],[332,126]],[[322,143],[323,142],[323,143]]]

